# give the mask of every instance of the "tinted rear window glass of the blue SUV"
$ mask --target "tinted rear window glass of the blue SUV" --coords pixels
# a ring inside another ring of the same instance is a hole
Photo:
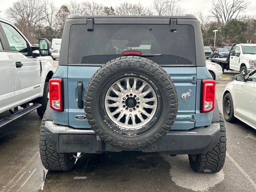
[[[164,64],[196,64],[194,28],[177,25],[177,32],[164,24],[86,24],[70,28],[68,63],[105,64],[122,56],[125,50],[139,50],[154,62]]]

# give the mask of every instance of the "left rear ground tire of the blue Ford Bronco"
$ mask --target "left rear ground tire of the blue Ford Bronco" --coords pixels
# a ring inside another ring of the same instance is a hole
[[[46,140],[44,133],[44,124],[46,118],[42,119],[40,129],[40,157],[43,166],[47,170],[52,171],[67,171],[70,170],[75,164],[75,158],[72,153],[58,153],[54,150],[51,144]]]

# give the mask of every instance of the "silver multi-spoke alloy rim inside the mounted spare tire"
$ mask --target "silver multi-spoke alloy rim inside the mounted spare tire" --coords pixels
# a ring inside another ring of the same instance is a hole
[[[146,125],[156,113],[156,92],[140,78],[126,77],[114,82],[105,96],[105,109],[118,126],[136,129]]]

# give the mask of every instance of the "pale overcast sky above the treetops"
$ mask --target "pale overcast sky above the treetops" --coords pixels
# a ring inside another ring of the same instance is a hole
[[[12,6],[13,2],[16,0],[0,0],[0,17],[4,16],[4,11]],[[76,0],[76,2],[82,2],[83,0]],[[89,0],[92,2],[92,0]],[[140,2],[144,6],[150,6],[153,0],[94,0],[94,2],[104,4],[106,6],[112,6],[115,8],[118,4],[122,2],[138,3]],[[250,6],[247,8],[246,12],[243,14],[256,15],[256,0],[244,0],[245,2],[251,2]],[[70,0],[54,0],[54,4],[60,7],[62,4],[68,4]],[[209,14],[211,8],[212,0],[183,0],[180,5],[182,8],[186,9],[188,13],[202,12],[205,15]]]

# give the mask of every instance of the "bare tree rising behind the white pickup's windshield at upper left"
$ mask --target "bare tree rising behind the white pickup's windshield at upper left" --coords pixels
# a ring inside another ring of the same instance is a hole
[[[38,0],[19,0],[6,10],[6,15],[33,43],[35,27],[44,18],[42,4]]]

